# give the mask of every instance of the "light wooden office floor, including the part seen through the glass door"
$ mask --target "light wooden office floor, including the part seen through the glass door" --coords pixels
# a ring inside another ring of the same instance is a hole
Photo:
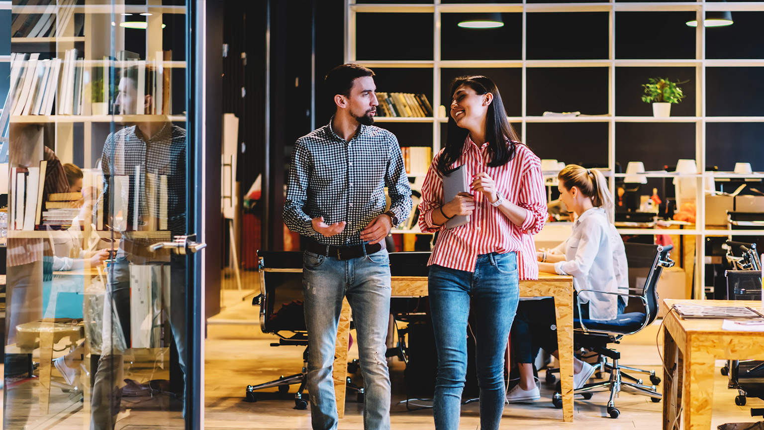
[[[280,395],[276,390],[259,394],[256,403],[244,402],[245,387],[248,384],[274,380],[282,375],[299,372],[303,366],[302,348],[270,347],[275,337],[264,335],[257,321],[257,308],[251,306],[254,292],[226,290],[225,310],[211,318],[206,340],[205,360],[205,417],[209,430],[234,428],[261,429],[309,429],[309,410],[295,410],[293,396]],[[653,325],[635,336],[627,337],[618,349],[622,353],[623,365],[633,365],[655,369],[661,373],[659,350],[656,347],[656,334],[659,327]],[[353,348],[351,358],[357,357]],[[127,363],[126,363],[127,364]],[[152,362],[152,364],[154,364]],[[720,365],[720,363],[719,363]],[[154,366],[142,366],[131,363],[131,372],[125,377],[135,380],[150,380],[166,377],[166,370]],[[392,428],[414,430],[434,428],[432,410],[408,411],[403,390],[403,363],[391,363],[393,384],[393,405],[391,406]],[[151,373],[145,368],[153,369]],[[60,376],[53,371],[55,380]],[[361,384],[360,373],[353,376]],[[727,378],[720,373],[714,375],[714,415],[713,428],[725,422],[751,422],[749,408],[764,407],[764,401],[749,399],[744,407],[735,406],[733,399],[736,392],[727,389]],[[13,383],[13,381],[6,381]],[[27,424],[5,422],[4,428],[39,428],[47,430],[81,430],[89,428],[89,416],[86,406],[75,397],[66,395],[60,389],[53,389],[51,414],[40,415],[37,408],[37,383],[28,384],[30,390],[21,396],[28,399],[30,415]],[[291,390],[294,393],[294,388]],[[554,409],[550,401],[552,387],[542,385],[542,399],[526,404],[508,405],[504,409],[501,428],[517,428],[518,425],[534,428],[597,429],[597,428],[661,428],[662,403],[652,403],[642,396],[628,393],[621,394],[616,400],[621,415],[619,419],[607,418],[605,403],[607,393],[596,393],[589,401],[576,399],[575,422],[562,422],[562,410]],[[79,396],[81,398],[81,396]],[[19,398],[17,398],[19,399]],[[141,399],[123,399],[122,410],[118,415],[116,430],[138,428],[183,428],[180,410],[163,404],[163,399],[153,401]],[[156,404],[154,404],[156,403]],[[18,408],[20,403],[15,403]],[[170,405],[171,406],[171,405]],[[412,408],[416,406],[410,405]],[[22,408],[23,409],[23,408]],[[462,407],[461,428],[473,430],[478,427],[478,403]],[[341,429],[363,428],[362,406],[355,402],[354,396],[348,396],[345,419],[339,424]],[[13,414],[11,414],[13,415]]]

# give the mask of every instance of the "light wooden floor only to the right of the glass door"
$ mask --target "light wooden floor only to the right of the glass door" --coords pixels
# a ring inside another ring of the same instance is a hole
[[[249,317],[247,317],[249,315]],[[252,318],[252,308],[246,303],[241,307],[231,306],[221,315],[228,320]],[[244,323],[245,321],[241,321]],[[253,321],[254,322],[254,321]],[[212,327],[212,326],[211,326]],[[659,350],[656,347],[655,324],[640,334],[629,337],[618,346],[622,353],[621,363],[661,372]],[[259,326],[239,324],[219,326],[210,331],[206,342],[206,428],[293,428],[309,429],[309,410],[295,410],[292,394],[281,396],[271,390],[262,393],[256,403],[244,402],[244,388],[248,384],[263,383],[282,375],[299,372],[302,363],[300,347],[270,347],[274,337],[261,334]],[[351,350],[351,357],[357,351]],[[721,363],[719,363],[720,365]],[[407,411],[400,404],[405,399],[403,390],[403,363],[391,364],[393,384],[393,404],[390,419],[392,428],[434,428],[432,410]],[[661,375],[662,376],[662,375]],[[361,383],[360,375],[353,376],[354,382]],[[647,380],[647,378],[645,378]],[[294,393],[294,388],[291,393]],[[621,415],[610,419],[605,411],[607,393],[595,393],[591,400],[577,396],[575,402],[575,422],[562,422],[562,410],[554,409],[551,402],[552,386],[542,383],[542,399],[526,404],[507,405],[504,409],[501,428],[517,428],[528,425],[535,428],[661,428],[662,403],[653,403],[643,396],[622,393],[616,399]],[[727,389],[727,378],[715,374],[713,428],[725,422],[752,422],[750,407],[764,407],[760,399],[748,399],[744,407],[736,406],[733,399],[736,392]],[[363,428],[361,405],[348,396],[345,419],[339,428]],[[413,406],[412,406],[413,408]],[[461,428],[474,429],[480,422],[479,404],[462,406]]]

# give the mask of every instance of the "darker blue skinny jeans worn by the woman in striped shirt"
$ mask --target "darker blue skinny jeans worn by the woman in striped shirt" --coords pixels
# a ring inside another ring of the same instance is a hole
[[[497,429],[506,396],[504,351],[520,298],[516,253],[482,254],[474,272],[431,265],[428,281],[438,352],[435,428],[459,428],[461,392],[467,374],[467,320],[472,301],[481,429]]]

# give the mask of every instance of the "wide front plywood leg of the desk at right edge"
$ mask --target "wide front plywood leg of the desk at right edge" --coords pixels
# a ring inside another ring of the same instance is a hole
[[[685,350],[684,405],[682,419],[687,430],[711,428],[714,404],[714,356],[698,345]]]

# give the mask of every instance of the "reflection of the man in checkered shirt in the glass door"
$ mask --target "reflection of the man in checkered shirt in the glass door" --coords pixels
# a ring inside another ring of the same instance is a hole
[[[139,70],[142,71],[137,66],[121,70],[119,93],[115,100],[115,109],[121,115],[151,112],[156,73],[152,67],[146,67],[146,96],[138,100]],[[157,111],[160,110],[157,108]],[[172,327],[180,368],[184,375],[186,373],[185,256],[170,254],[162,249],[153,252],[149,248],[152,243],[167,242],[171,236],[186,232],[186,130],[173,125],[166,117],[150,120],[156,118],[151,116],[145,122],[133,122],[109,135],[103,148],[102,201],[109,202],[103,210],[104,222],[112,230],[120,230],[121,241],[108,273],[104,344],[92,391],[92,429],[114,428],[122,394],[120,387],[125,386],[122,379],[123,348],[131,347],[131,316],[135,318],[136,311],[131,309],[131,275],[135,277],[147,265],[162,263],[169,267],[170,285],[162,285],[166,295],[163,311],[166,314],[169,312],[167,319]],[[115,187],[115,184],[128,186]],[[150,197],[157,200],[147,201]],[[163,201],[167,202],[166,211],[161,203]],[[111,216],[107,217],[107,213]],[[124,220],[125,217],[127,220]],[[164,226],[163,218],[167,220],[166,230],[156,231]],[[171,311],[167,296],[172,305]],[[114,318],[110,318],[112,316]],[[109,319],[112,319],[111,324]],[[151,388],[157,389],[156,386]]]

